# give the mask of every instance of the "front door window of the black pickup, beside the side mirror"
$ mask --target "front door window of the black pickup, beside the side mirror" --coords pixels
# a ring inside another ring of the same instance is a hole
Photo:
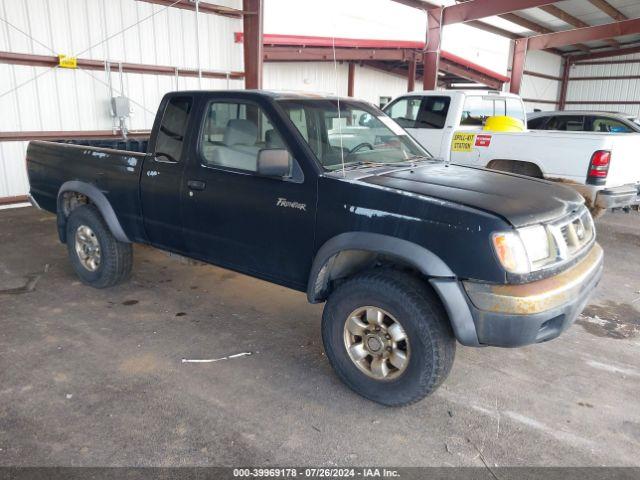
[[[262,109],[252,103],[210,103],[200,139],[203,165],[256,172],[258,153],[286,149]]]

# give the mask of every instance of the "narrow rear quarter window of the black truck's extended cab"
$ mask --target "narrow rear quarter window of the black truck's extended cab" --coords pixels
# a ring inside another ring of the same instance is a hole
[[[173,97],[167,103],[156,137],[157,157],[166,157],[172,162],[180,161],[192,102],[191,97]]]

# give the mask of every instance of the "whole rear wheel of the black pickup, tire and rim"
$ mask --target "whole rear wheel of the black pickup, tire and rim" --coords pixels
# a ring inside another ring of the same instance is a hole
[[[93,205],[77,207],[69,215],[67,251],[80,280],[92,287],[111,287],[131,273],[131,244],[115,239]]]

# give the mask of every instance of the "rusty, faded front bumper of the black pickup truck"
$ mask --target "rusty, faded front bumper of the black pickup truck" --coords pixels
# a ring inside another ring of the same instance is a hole
[[[570,269],[522,285],[463,282],[481,345],[519,347],[551,340],[582,312],[602,276],[597,243]]]

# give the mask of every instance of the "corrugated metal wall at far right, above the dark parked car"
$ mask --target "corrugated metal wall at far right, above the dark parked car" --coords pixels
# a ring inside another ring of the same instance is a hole
[[[603,60],[636,60],[637,63],[574,65],[569,76],[567,101],[638,101],[640,81],[637,79],[571,80],[572,77],[611,77],[640,75],[640,55],[625,55]],[[606,83],[605,83],[606,82]],[[605,110],[640,115],[640,104],[568,104],[567,110]]]

